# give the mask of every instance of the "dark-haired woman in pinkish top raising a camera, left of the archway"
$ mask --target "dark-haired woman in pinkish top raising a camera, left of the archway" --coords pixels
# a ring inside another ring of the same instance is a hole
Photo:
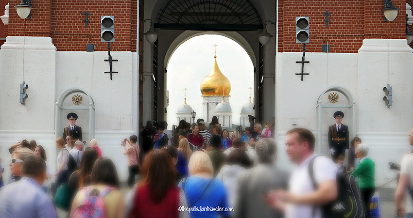
[[[126,141],[129,143],[129,148],[126,150]],[[128,156],[128,168],[129,168],[129,177],[128,177],[128,186],[130,188],[135,184],[136,176],[139,174],[139,146],[136,144],[138,141],[138,136],[132,135],[129,137],[129,140],[125,138],[122,141],[123,155]]]

